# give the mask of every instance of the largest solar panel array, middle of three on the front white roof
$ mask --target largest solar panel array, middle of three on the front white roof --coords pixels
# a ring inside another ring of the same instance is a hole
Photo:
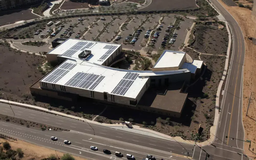
[[[65,85],[93,90],[105,76],[78,72]]]

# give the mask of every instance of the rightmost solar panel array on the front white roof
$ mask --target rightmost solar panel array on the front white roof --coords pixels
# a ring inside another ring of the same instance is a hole
[[[121,81],[118,83],[118,85],[115,86],[115,88],[112,90],[112,94],[117,95],[125,95],[127,90],[132,86],[135,79],[139,76],[138,73],[131,73],[128,72],[125,74],[125,76],[121,79]]]

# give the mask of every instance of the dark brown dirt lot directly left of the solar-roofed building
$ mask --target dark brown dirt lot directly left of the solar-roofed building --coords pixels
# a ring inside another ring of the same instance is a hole
[[[29,86],[42,76],[37,65],[45,61],[45,57],[15,51],[10,47],[0,47],[0,51],[1,92],[18,97],[30,95]]]

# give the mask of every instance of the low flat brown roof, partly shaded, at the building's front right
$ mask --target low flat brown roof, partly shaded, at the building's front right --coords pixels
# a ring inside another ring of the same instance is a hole
[[[180,92],[184,82],[175,82],[161,89],[151,88],[144,93],[138,105],[181,112],[187,98],[187,93]],[[165,95],[157,94],[164,93]]]

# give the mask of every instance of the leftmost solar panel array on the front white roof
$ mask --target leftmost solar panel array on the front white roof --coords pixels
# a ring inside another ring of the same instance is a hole
[[[69,72],[69,70],[64,70],[64,69],[57,68],[49,76],[47,76],[45,79],[43,79],[43,81],[49,82],[49,83],[57,83],[68,72]]]

